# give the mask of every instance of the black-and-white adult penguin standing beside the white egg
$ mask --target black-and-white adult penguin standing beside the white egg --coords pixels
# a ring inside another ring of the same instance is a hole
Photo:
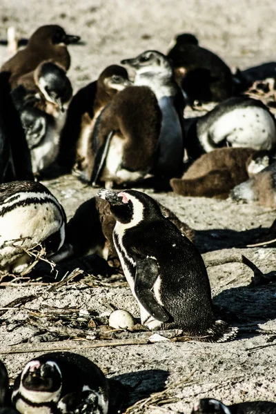
[[[135,190],[99,190],[116,219],[113,240],[141,323],[150,330],[181,328],[184,335],[223,342],[236,330],[215,320],[206,267],[197,248],[151,197]]]

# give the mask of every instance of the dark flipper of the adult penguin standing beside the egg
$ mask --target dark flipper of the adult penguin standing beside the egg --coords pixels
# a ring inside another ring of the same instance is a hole
[[[146,311],[160,322],[169,319],[163,306],[155,298],[152,288],[159,276],[158,264],[155,259],[147,257],[144,260],[136,260],[135,294],[140,304]]]

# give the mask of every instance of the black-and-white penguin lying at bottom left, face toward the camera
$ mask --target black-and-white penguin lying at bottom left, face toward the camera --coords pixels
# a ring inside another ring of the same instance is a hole
[[[107,414],[108,399],[108,381],[100,368],[70,352],[31,359],[14,381],[12,391],[12,404],[21,414]],[[86,411],[86,405],[92,411]]]

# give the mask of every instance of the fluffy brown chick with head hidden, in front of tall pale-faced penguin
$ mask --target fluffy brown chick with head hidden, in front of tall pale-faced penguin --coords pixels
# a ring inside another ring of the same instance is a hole
[[[155,173],[160,130],[161,112],[150,88],[121,90],[97,119],[83,180],[112,188]]]

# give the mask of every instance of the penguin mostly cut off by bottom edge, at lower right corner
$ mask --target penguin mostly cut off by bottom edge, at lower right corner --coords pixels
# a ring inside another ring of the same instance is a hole
[[[226,406],[215,398],[203,398],[194,405],[192,414],[275,414],[276,404],[270,401],[240,402]]]

